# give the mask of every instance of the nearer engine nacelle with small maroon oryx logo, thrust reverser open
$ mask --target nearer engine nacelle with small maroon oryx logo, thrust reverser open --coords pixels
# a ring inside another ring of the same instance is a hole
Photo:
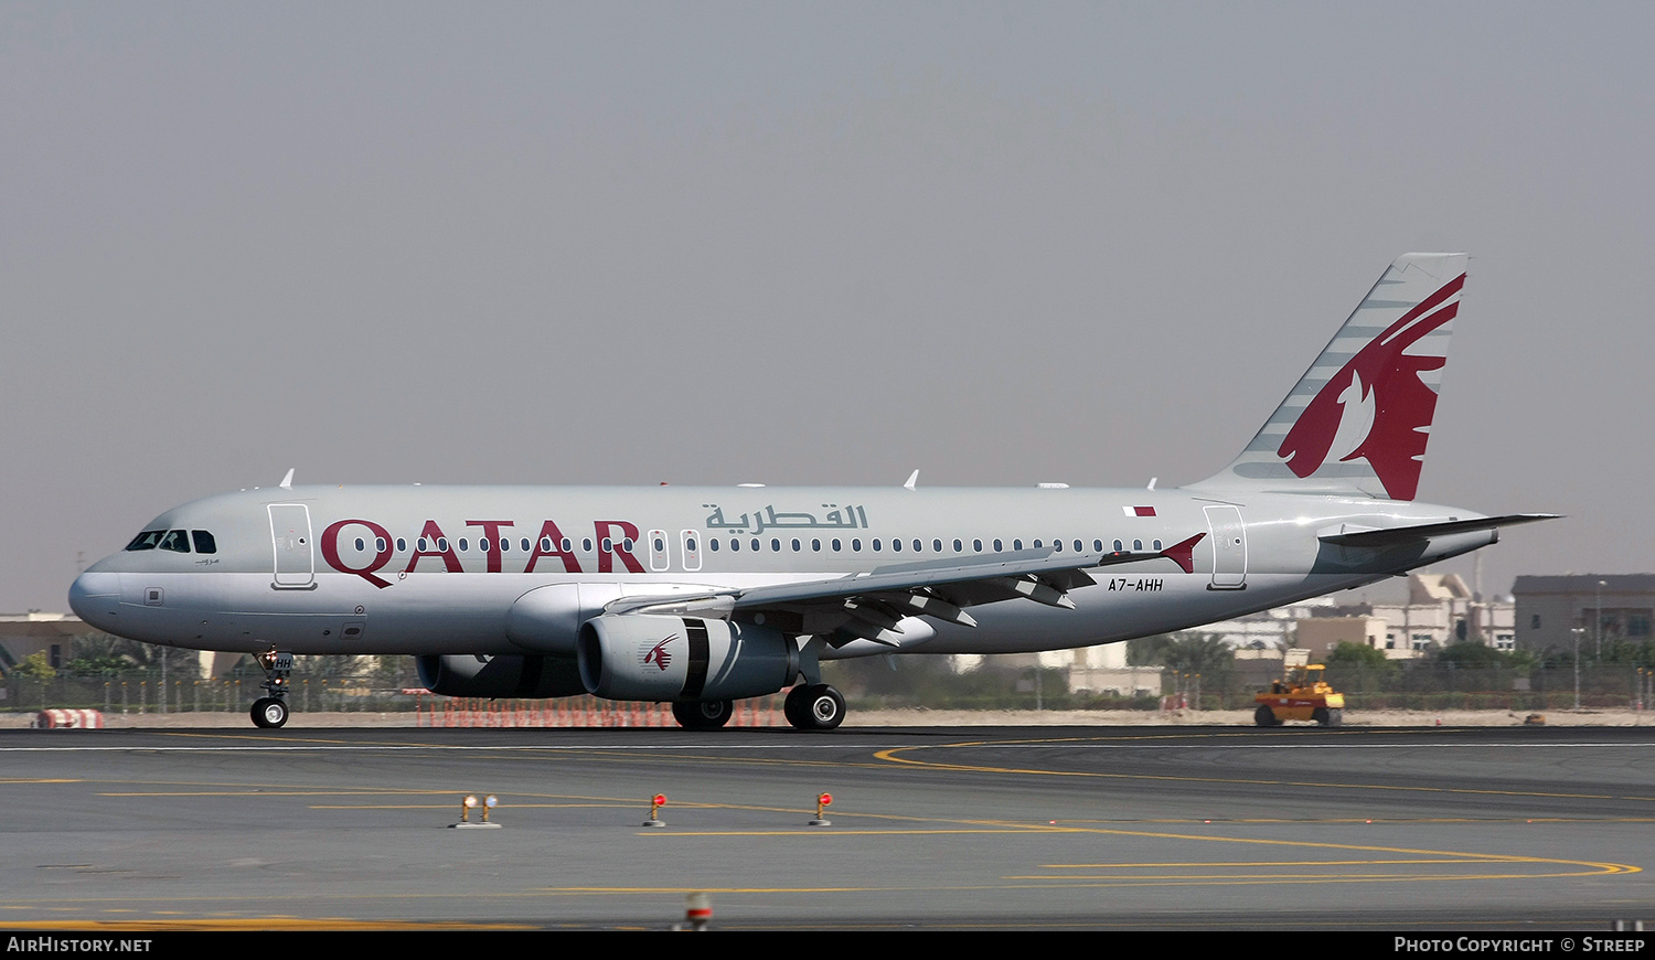
[[[799,649],[768,627],[622,614],[581,624],[581,682],[611,700],[738,700],[775,694],[799,672]]]

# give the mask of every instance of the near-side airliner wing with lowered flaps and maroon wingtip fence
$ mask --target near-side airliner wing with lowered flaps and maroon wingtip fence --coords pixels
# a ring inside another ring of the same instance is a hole
[[[1086,571],[1149,559],[1172,559],[1185,573],[1193,569],[1192,551],[1206,536],[1198,533],[1158,551],[1058,553],[1021,550],[958,559],[897,563],[867,573],[828,579],[796,581],[750,589],[708,591],[705,596],[622,598],[604,607],[606,614],[710,614],[735,611],[765,614],[788,632],[831,634],[836,646],[862,637],[900,646],[899,622],[910,616],[937,617],[975,627],[963,607],[1029,599],[1074,609],[1067,591],[1092,586]],[[831,641],[832,642],[832,641]]]

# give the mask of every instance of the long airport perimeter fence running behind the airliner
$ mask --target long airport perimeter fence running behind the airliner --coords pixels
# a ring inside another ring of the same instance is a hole
[[[1158,692],[1134,694],[1069,690],[1063,670],[1043,669],[1043,684],[1031,689],[1028,672],[1001,670],[991,684],[986,677],[962,675],[958,685],[928,677],[915,690],[872,692],[857,682],[836,679],[846,700],[857,710],[932,708],[932,710],[1155,710],[1177,702],[1197,710],[1241,710],[1253,707],[1259,692],[1256,679],[1238,670],[1208,674],[1162,674]],[[177,670],[164,677],[159,670],[132,670],[109,677],[51,679],[12,674],[0,682],[0,712],[38,712],[48,708],[103,710],[109,715],[132,713],[242,713],[263,697],[260,675],[223,679],[185,679]],[[1582,665],[1579,687],[1572,667],[1518,670],[1511,667],[1463,669],[1448,664],[1402,664],[1385,667],[1329,665],[1327,682],[1344,694],[1349,710],[1508,710],[1541,712],[1582,708],[1642,710],[1655,705],[1655,670],[1627,665]],[[449,697],[424,690],[412,675],[303,675],[295,674],[290,703],[300,712],[392,713],[452,710]],[[1579,694],[1577,694],[1579,690]],[[1579,698],[1577,698],[1579,697]],[[518,702],[501,702],[518,703]],[[607,712],[626,710],[609,702],[574,697],[525,702],[510,710],[578,710],[611,723]],[[475,707],[501,710],[503,707]]]

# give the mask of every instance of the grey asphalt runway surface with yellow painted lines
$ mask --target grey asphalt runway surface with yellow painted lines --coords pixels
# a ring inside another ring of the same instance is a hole
[[[0,809],[33,929],[1655,919],[1642,728],[13,730]]]

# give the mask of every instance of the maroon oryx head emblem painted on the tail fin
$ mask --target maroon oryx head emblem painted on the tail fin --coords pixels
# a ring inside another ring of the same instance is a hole
[[[1357,351],[1306,404],[1276,455],[1299,477],[1362,457],[1394,500],[1413,500],[1437,412],[1437,391],[1420,374],[1446,358],[1407,351],[1460,313],[1463,286],[1465,273]]]

